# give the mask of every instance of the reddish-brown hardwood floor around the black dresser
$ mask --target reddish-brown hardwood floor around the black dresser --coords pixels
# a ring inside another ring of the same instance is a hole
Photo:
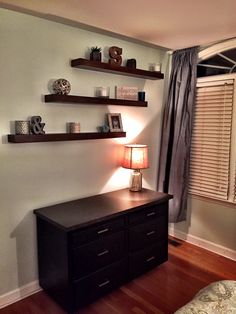
[[[122,286],[79,314],[172,314],[204,286],[236,280],[236,262],[187,242],[169,245],[169,261]],[[0,314],[64,314],[43,291],[0,310]]]

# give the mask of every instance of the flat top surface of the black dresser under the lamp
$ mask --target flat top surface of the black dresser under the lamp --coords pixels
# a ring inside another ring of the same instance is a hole
[[[73,230],[171,199],[169,194],[143,189],[131,192],[122,189],[78,200],[35,209],[34,213],[62,229]]]

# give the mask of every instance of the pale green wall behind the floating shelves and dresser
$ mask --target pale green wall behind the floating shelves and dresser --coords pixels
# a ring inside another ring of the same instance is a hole
[[[121,144],[147,143],[146,187],[155,188],[164,81],[149,81],[73,69],[70,59],[85,57],[94,45],[123,48],[138,68],[160,62],[164,51],[80,30],[21,13],[0,10],[0,295],[37,279],[33,209],[128,185],[119,167]],[[164,61],[163,61],[164,62]],[[71,94],[93,96],[95,86],[137,86],[147,92],[148,108],[46,104],[54,79],[72,84]],[[65,132],[80,121],[95,131],[107,112],[122,114],[126,139],[8,144],[12,121],[41,115],[46,132]]]

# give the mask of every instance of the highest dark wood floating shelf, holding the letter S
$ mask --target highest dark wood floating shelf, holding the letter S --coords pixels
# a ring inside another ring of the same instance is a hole
[[[119,75],[126,75],[132,77],[139,77],[149,80],[161,80],[164,78],[164,74],[155,71],[146,71],[141,69],[131,69],[124,66],[114,66],[109,63],[91,61],[83,58],[71,60],[71,66],[73,68],[80,68],[86,70],[108,72]]]

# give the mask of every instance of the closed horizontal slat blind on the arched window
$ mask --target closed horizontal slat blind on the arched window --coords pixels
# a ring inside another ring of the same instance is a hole
[[[233,94],[234,80],[197,86],[190,159],[192,194],[228,200]]]

